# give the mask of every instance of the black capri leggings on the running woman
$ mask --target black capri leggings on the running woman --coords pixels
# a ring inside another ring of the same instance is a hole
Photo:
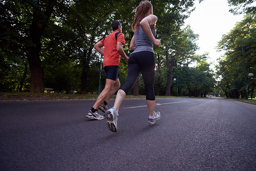
[[[132,54],[128,60],[127,80],[120,89],[127,94],[136,83],[141,72],[146,89],[146,99],[155,100],[155,64],[156,60],[153,52],[141,51]]]

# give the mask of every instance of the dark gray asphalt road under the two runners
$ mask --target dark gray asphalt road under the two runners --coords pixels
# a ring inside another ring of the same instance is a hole
[[[85,117],[94,102],[0,101],[0,170],[256,170],[256,105],[156,99],[149,125],[145,100],[124,100],[115,133]]]

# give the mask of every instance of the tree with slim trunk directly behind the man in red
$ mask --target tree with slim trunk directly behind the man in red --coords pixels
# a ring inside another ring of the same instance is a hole
[[[94,54],[94,44],[112,32],[113,19],[119,19],[123,30],[128,30],[125,28],[131,24],[131,11],[134,3],[127,2],[124,5],[124,1],[102,1],[101,3],[75,1],[74,10],[78,14],[76,16],[78,22],[76,22],[77,25],[72,26],[72,30],[81,40],[78,45],[78,54],[80,54],[78,60],[82,65],[82,93],[87,93],[87,75],[91,64],[94,64],[98,56]],[[67,25],[70,25],[74,19],[68,21]]]

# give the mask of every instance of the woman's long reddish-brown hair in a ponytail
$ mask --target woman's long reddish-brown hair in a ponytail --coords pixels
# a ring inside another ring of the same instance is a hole
[[[140,5],[136,7],[134,21],[132,23],[132,31],[135,32],[141,20],[145,17],[145,14],[152,8],[152,4],[149,1],[142,1]]]

